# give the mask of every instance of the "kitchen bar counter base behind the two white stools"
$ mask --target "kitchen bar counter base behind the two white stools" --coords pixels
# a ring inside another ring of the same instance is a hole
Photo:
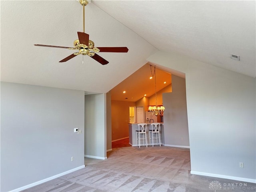
[[[129,125],[129,144],[131,146],[137,146],[136,145],[136,130],[138,130],[138,123],[128,123]],[[160,123],[160,127],[161,127],[161,144],[164,142],[162,139],[164,138],[164,123]],[[151,123],[147,123],[147,137],[148,137],[148,145],[149,145],[149,132],[148,130],[151,129]],[[144,144],[140,144],[140,145],[144,145]],[[146,144],[145,144],[146,145]],[[155,145],[155,141],[154,141],[154,145]]]

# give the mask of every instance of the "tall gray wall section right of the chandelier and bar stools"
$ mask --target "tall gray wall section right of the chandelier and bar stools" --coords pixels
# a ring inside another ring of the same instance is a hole
[[[164,145],[189,147],[186,82],[172,75],[172,92],[163,93]]]

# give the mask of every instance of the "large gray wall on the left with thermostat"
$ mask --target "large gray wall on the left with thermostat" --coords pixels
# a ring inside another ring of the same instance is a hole
[[[83,91],[1,82],[0,191],[83,166],[83,152]]]

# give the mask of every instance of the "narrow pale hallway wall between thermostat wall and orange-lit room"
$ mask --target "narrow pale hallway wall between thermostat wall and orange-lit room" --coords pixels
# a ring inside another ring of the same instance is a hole
[[[84,156],[106,159],[106,94],[85,96]]]

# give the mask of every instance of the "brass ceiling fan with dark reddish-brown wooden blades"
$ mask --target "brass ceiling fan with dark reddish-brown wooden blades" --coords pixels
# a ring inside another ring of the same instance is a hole
[[[83,6],[83,16],[84,16],[84,6],[88,4],[88,0],[80,0],[80,4]],[[84,18],[83,18],[84,19]],[[84,20],[83,20],[84,21]],[[84,22],[83,22],[84,23]],[[42,47],[55,47],[55,48],[64,48],[70,50],[79,50],[79,52],[75,52],[70,56],[62,59],[59,62],[66,62],[77,55],[88,55],[94,60],[100,62],[102,65],[108,64],[108,61],[96,54],[95,52],[128,52],[127,47],[94,47],[94,42],[89,40],[89,35],[83,32],[77,32],[78,40],[74,41],[74,48],[73,47],[62,47],[62,46],[52,46],[52,45],[41,45],[41,44],[34,44],[35,46],[42,46]]]

